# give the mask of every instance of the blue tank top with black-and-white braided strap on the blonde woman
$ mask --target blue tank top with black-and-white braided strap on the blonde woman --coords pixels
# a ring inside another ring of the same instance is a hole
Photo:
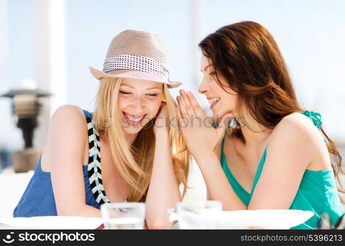
[[[87,165],[80,167],[84,174],[85,203],[100,209],[101,204],[109,202],[102,183],[100,137],[95,129],[92,114],[86,110],[83,112],[89,139],[89,161]],[[13,217],[54,215],[57,215],[57,211],[50,172],[42,171],[40,157],[34,175],[14,209]]]

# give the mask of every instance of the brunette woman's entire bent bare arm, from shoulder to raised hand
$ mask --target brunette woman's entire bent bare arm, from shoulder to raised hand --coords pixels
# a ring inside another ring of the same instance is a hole
[[[177,97],[180,108],[177,114],[183,116],[180,123],[186,125],[182,128],[182,134],[201,169],[209,197],[222,201],[224,210],[289,208],[304,171],[315,159],[315,153],[326,148],[311,121],[296,113],[285,117],[276,125],[260,179],[246,208],[229,184],[214,151],[224,135],[226,115],[217,129],[187,124],[184,119],[190,122],[193,115],[205,119],[205,114],[192,93],[181,90],[180,94]]]

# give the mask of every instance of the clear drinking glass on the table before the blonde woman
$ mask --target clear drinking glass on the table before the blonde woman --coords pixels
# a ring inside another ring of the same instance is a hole
[[[105,229],[142,229],[145,203],[106,203],[101,205],[101,214]]]

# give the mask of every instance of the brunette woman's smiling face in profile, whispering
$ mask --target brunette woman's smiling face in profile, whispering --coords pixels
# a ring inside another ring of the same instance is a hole
[[[201,71],[204,78],[198,88],[198,92],[205,94],[210,104],[210,109],[213,112],[213,118],[218,119],[227,113],[237,115],[236,100],[237,93],[229,88],[227,81],[221,76],[218,76],[219,82],[223,85],[224,91],[216,82],[215,71],[211,64],[209,64],[207,57],[201,56]]]

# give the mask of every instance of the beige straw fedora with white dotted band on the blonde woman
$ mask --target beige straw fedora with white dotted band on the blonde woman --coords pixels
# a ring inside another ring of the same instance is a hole
[[[110,42],[103,71],[89,68],[98,80],[102,77],[135,78],[161,82],[169,88],[182,84],[170,81],[167,48],[164,41],[152,32],[121,31]]]

